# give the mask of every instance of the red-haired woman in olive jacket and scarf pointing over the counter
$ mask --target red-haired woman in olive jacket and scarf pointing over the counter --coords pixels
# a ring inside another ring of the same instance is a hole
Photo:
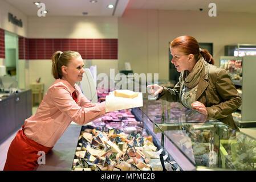
[[[170,43],[172,63],[181,72],[173,89],[148,85],[157,99],[181,102],[189,109],[238,129],[231,113],[241,105],[237,89],[225,69],[215,67],[212,55],[201,49],[192,36],[180,36]]]

